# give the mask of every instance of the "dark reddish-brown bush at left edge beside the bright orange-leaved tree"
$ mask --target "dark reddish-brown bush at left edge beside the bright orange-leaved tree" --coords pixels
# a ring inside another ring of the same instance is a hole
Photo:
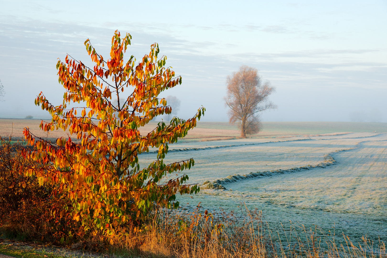
[[[79,223],[68,214],[55,219],[58,207],[69,203],[66,195],[58,195],[54,187],[39,185],[36,176],[25,176],[25,167],[39,169],[38,162],[23,157],[25,142],[13,142],[12,137],[0,137],[0,234],[19,240],[70,241],[79,233]],[[72,232],[72,233],[71,233]]]

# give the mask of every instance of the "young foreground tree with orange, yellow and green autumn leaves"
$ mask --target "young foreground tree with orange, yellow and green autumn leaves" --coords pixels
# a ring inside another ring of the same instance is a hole
[[[171,113],[158,95],[181,84],[182,77],[165,67],[166,57],[158,56],[157,43],[139,62],[130,56],[124,63],[131,38],[130,34],[121,38],[116,31],[108,60],[87,39],[84,44],[92,66],[69,55],[64,62],[58,61],[59,82],[65,88],[63,103],[52,104],[41,92],[35,104],[52,116],[51,122],[41,122],[41,129],[68,129],[67,140],[50,142],[24,130],[34,146],[24,155],[40,162],[39,168],[29,167],[24,173],[36,176],[41,185],[55,186],[55,193],[72,201],[71,207],[53,210],[53,216],[71,216],[85,230],[97,228],[108,235],[127,223],[137,230],[154,204],[178,207],[175,194],[199,191],[199,186],[185,184],[186,174],[171,176],[194,166],[193,159],[166,164],[164,157],[168,144],[187,135],[205,109],[198,109],[187,121],[175,118],[168,124],[158,123],[151,132],[140,132],[155,116]],[[123,96],[125,90],[130,90],[128,97]],[[157,150],[154,162],[140,167],[140,154],[152,148]]]

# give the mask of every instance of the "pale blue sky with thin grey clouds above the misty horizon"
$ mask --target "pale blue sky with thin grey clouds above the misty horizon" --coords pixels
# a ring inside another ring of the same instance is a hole
[[[226,77],[248,65],[276,87],[278,109],[262,121],[387,122],[387,1],[25,1],[0,0],[0,117],[49,118],[43,92],[62,103],[55,65],[89,59],[89,38],[106,59],[118,29],[137,60],[159,44],[182,75],[180,118],[228,121]]]

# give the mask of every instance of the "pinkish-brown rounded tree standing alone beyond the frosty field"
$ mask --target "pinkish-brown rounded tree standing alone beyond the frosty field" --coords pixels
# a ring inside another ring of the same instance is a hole
[[[258,133],[261,128],[258,112],[277,108],[269,101],[269,95],[276,91],[269,81],[262,84],[256,68],[242,65],[232,76],[227,76],[227,95],[224,97],[230,109],[230,123],[238,123],[241,137]]]

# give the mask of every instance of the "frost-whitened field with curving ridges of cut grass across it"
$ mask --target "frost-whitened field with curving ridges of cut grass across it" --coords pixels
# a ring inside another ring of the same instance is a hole
[[[335,227],[336,235],[355,241],[363,235],[387,241],[387,134],[300,138],[175,144],[164,161],[193,157],[195,166],[185,171],[190,183],[215,181],[225,188],[178,196],[188,210],[199,202],[208,210],[238,210],[244,202],[262,210],[272,229],[282,230],[282,223],[288,230],[291,220],[325,232]],[[155,156],[140,160],[149,164]]]

